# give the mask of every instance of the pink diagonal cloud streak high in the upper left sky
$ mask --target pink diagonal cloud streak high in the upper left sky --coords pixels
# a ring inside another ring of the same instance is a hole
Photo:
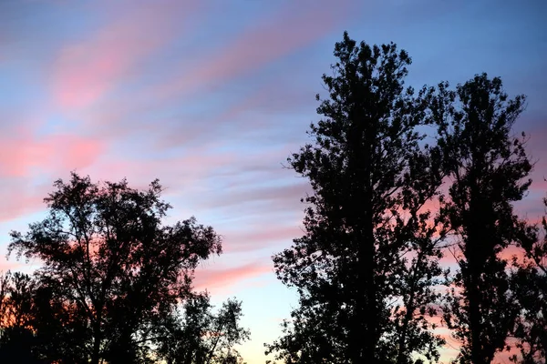
[[[193,10],[191,3],[126,5],[122,17],[88,40],[63,47],[53,72],[57,104],[68,110],[90,106],[120,80],[138,72],[147,57],[179,34],[178,26]]]

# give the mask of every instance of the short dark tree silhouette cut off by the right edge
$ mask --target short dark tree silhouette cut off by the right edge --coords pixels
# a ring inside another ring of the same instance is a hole
[[[543,204],[547,207],[547,198]],[[524,259],[513,262],[517,269],[511,288],[521,308],[514,336],[521,355],[511,360],[539,364],[547,358],[547,218],[542,217],[542,228],[531,227],[529,232],[531,238],[521,240]]]

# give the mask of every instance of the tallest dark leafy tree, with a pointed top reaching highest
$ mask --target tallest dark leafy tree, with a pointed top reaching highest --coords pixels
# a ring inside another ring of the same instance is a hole
[[[345,33],[335,56],[315,143],[288,159],[314,193],[302,199],[304,237],[274,256],[300,298],[266,353],[286,363],[434,359],[441,341],[426,314],[439,249],[424,204],[441,176],[439,153],[420,147],[418,132],[431,90],[404,88],[410,58],[394,44],[356,45]]]

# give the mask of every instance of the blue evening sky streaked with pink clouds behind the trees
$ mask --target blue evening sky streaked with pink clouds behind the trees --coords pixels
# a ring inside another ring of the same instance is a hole
[[[285,168],[310,139],[343,32],[395,42],[413,59],[407,84],[501,76],[528,96],[517,122],[536,162],[523,217],[547,191],[547,2],[542,0],[2,0],[0,270],[37,267],[5,251],[12,229],[44,217],[70,171],[93,180],[159,178],[170,221],[195,216],[223,237],[196,288],[243,300],[261,363],[296,304],[271,256],[303,235],[310,188]],[[443,359],[455,352],[446,349]]]

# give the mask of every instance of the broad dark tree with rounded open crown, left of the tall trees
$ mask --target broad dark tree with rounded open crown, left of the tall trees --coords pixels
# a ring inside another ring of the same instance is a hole
[[[45,201],[49,214],[12,232],[17,257],[38,258],[35,329],[50,361],[152,362],[165,324],[191,298],[197,264],[221,238],[194,217],[162,225],[170,205],[156,180],[139,191],[72,173]],[[47,335],[42,335],[47,334]],[[57,340],[61,338],[61,340]]]

